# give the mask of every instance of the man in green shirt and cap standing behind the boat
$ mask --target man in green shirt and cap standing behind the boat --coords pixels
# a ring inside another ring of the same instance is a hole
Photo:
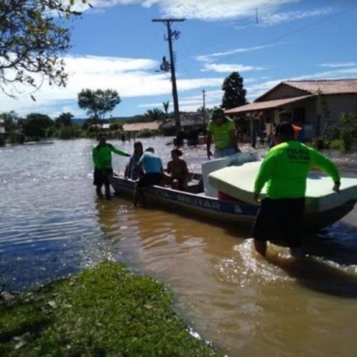
[[[211,143],[214,139],[214,157],[220,158],[239,152],[234,121],[224,116],[221,108],[214,109],[207,127],[207,157],[211,159]]]

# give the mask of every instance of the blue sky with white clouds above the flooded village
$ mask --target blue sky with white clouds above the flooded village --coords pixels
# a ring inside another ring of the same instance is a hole
[[[121,104],[112,116],[144,114],[170,101],[166,27],[151,19],[182,17],[174,24],[180,110],[221,104],[223,79],[238,71],[249,101],[286,79],[357,78],[357,2],[353,0],[76,0],[83,11],[71,22],[72,48],[64,56],[65,89],[44,84],[32,101],[0,94],[1,111],[53,118],[62,111],[86,117],[76,104],[84,88],[116,89]],[[258,9],[258,24],[256,23]]]

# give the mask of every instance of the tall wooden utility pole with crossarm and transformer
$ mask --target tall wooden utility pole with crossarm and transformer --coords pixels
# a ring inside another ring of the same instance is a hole
[[[181,131],[181,122],[180,122],[180,112],[178,111],[178,95],[176,87],[176,73],[175,73],[175,59],[174,59],[174,50],[172,48],[172,39],[178,39],[180,36],[179,31],[172,31],[171,24],[173,22],[182,22],[185,19],[153,19],[153,22],[162,22],[166,25],[167,28],[167,37],[165,36],[165,41],[169,41],[169,52],[170,52],[170,69],[171,69],[171,82],[172,82],[172,96],[174,99],[174,116],[175,116],[175,125],[176,125],[176,139],[178,139],[178,133]],[[180,143],[178,143],[180,144]]]

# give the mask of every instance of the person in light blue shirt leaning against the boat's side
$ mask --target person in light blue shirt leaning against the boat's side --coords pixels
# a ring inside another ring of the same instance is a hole
[[[139,201],[145,206],[145,196],[143,187],[151,185],[159,185],[164,173],[162,161],[155,154],[153,148],[148,148],[138,162],[139,168],[144,172],[134,189],[134,206],[137,206]]]

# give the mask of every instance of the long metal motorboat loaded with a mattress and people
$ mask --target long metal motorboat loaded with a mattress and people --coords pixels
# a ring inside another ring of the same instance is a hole
[[[163,208],[175,213],[181,213],[190,218],[203,218],[215,220],[220,223],[231,223],[236,226],[251,227],[258,212],[258,204],[244,202],[239,198],[218,198],[215,188],[209,185],[209,169],[215,172],[218,166],[238,164],[257,161],[256,154],[236,154],[229,156],[229,159],[218,159],[207,161],[202,165],[203,174],[191,174],[188,181],[187,191],[177,191],[171,187],[149,186],[144,188],[146,201],[158,203]],[[219,161],[220,160],[220,161]],[[228,161],[227,161],[228,160]],[[204,185],[203,183],[206,183]],[[134,193],[135,181],[125,179],[114,174],[111,178],[111,185],[114,191],[120,195],[130,195]],[[205,187],[206,186],[206,187]],[[315,232],[326,226],[339,221],[350,212],[356,203],[356,199],[348,200],[338,206],[333,206],[326,210],[307,211],[304,216],[304,231]]]

